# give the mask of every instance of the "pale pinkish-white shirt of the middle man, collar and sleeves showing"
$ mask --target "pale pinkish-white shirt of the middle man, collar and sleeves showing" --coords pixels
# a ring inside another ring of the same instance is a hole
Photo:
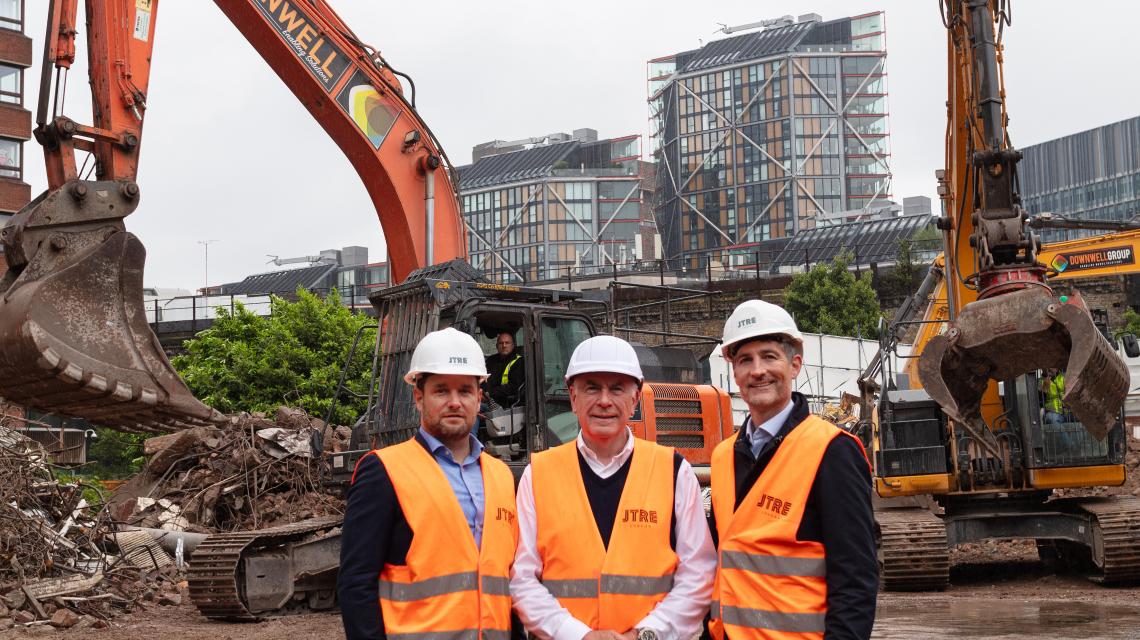
[[[578,451],[591,470],[602,478],[618,472],[634,452],[634,436],[626,428],[626,445],[612,460],[603,462],[578,435]],[[530,467],[522,472],[518,489],[519,546],[511,568],[511,600],[527,630],[542,640],[581,640],[593,631],[575,618],[543,586],[543,559],[536,543],[535,489]],[[697,475],[682,461],[674,489],[673,511],[677,517],[677,570],[673,590],[635,629],[652,629],[660,640],[689,640],[700,632],[712,598],[716,551],[709,535]],[[619,633],[624,629],[613,630]]]

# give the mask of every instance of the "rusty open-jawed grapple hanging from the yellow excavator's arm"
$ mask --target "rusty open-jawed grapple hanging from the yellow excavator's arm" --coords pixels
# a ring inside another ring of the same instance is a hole
[[[1083,305],[1060,302],[1044,286],[966,305],[919,358],[922,387],[947,415],[967,424],[980,418],[991,379],[1043,368],[1065,372],[1062,402],[1104,439],[1127,395],[1127,367]]]

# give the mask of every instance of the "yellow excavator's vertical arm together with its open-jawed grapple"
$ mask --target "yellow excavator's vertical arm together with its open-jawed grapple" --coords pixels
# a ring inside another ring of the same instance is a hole
[[[1008,2],[943,6],[950,99],[939,227],[947,238],[950,322],[922,349],[922,387],[955,429],[985,441],[979,435],[1000,413],[995,381],[1056,367],[1065,371],[1066,406],[1104,438],[1127,392],[1127,370],[1080,298],[1062,301],[1053,293],[1039,260],[1041,243],[1018,194],[1021,154],[1005,127],[1001,32]]]

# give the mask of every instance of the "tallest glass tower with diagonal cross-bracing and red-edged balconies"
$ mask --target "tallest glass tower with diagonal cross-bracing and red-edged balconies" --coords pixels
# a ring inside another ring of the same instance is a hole
[[[748,265],[821,213],[890,196],[886,15],[816,14],[649,63],[665,257]]]

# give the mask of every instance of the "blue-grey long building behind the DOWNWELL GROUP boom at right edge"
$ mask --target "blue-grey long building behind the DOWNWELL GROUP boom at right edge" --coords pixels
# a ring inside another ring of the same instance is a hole
[[[1114,221],[1140,218],[1140,116],[1020,151],[1021,202],[1031,214]],[[1109,232],[1039,233],[1044,242],[1057,242]]]

